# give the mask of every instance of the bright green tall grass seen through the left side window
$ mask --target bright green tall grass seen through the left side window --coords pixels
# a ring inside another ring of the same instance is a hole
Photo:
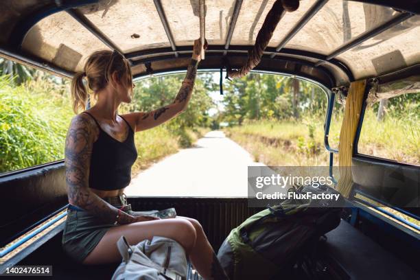
[[[57,86],[43,80],[14,86],[0,76],[0,172],[63,159],[71,116],[69,97]]]

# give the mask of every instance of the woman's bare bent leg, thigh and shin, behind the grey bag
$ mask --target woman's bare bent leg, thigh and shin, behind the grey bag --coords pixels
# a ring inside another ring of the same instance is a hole
[[[151,240],[155,235],[171,238],[183,246],[203,278],[225,279],[218,276],[222,270],[200,223],[184,217],[135,222],[112,228],[84,259],[84,264],[106,264],[119,261],[121,255],[116,244],[121,235],[126,237],[129,244],[137,244],[145,239]]]

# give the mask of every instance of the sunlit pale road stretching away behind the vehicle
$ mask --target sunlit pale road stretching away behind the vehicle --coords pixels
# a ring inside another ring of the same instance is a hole
[[[180,150],[132,178],[127,196],[247,196],[253,158],[221,131]]]

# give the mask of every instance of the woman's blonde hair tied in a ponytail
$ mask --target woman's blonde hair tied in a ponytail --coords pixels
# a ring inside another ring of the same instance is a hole
[[[84,72],[75,73],[71,80],[74,113],[77,114],[79,108],[86,108],[89,90],[96,97],[97,91],[105,88],[114,72],[117,72],[119,80],[127,78],[127,86],[132,84],[130,64],[118,51],[95,51],[89,56]],[[87,88],[83,83],[84,77],[87,79]]]

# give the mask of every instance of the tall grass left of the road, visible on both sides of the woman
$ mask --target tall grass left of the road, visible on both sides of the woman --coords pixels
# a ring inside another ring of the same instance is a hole
[[[64,159],[71,118],[68,85],[32,80],[16,86],[0,76],[0,173]],[[174,121],[135,135],[135,175],[158,159],[187,148],[205,131],[179,128]]]

